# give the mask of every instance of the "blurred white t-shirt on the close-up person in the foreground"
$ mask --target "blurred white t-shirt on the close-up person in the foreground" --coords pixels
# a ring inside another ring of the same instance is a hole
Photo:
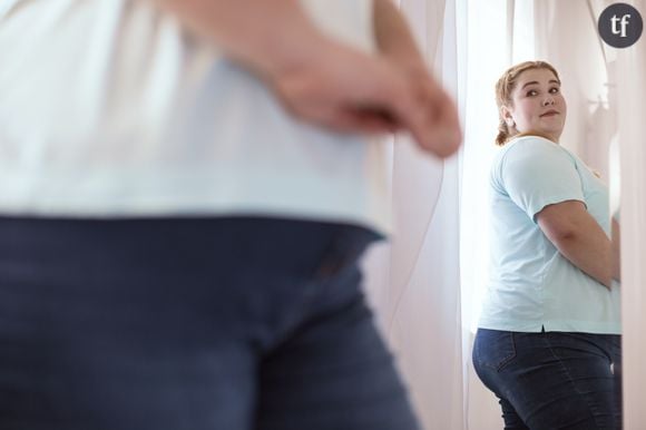
[[[374,49],[371,0],[303,0]],[[389,229],[384,148],[293,120],[141,0],[0,0],[0,214],[267,215]]]

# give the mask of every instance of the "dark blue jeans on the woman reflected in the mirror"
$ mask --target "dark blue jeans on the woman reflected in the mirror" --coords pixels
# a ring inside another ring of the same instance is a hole
[[[620,336],[478,330],[476,372],[505,429],[621,429]]]

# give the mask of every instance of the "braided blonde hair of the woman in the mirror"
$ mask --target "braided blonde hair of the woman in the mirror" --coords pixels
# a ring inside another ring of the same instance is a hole
[[[498,82],[496,82],[496,105],[498,106],[498,118],[499,118],[498,136],[496,137],[496,145],[498,146],[503,146],[509,141],[509,139],[511,139],[515,136],[518,136],[518,133],[511,134],[512,131],[509,129],[509,126],[507,125],[505,118],[502,117],[501,107],[511,106],[513,104],[511,99],[511,92],[513,91],[516,85],[518,84],[518,77],[520,76],[520,74],[527,70],[535,69],[547,69],[551,71],[554,76],[556,76],[556,79],[558,81],[560,81],[558,72],[556,71],[554,66],[551,66],[549,62],[525,61],[507,69],[507,71],[502,74],[500,79],[498,79]],[[531,135],[536,135],[536,133],[531,133]]]

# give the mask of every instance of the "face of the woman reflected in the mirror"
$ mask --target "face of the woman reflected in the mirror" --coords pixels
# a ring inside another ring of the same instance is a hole
[[[548,69],[530,69],[518,76],[511,92],[512,106],[503,106],[502,118],[511,130],[537,133],[557,141],[567,114],[560,84]]]

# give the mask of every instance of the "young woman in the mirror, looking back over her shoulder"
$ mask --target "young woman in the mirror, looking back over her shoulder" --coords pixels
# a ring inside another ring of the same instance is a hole
[[[619,290],[608,190],[559,145],[556,69],[528,61],[496,86],[492,267],[473,364],[506,429],[620,429]]]

